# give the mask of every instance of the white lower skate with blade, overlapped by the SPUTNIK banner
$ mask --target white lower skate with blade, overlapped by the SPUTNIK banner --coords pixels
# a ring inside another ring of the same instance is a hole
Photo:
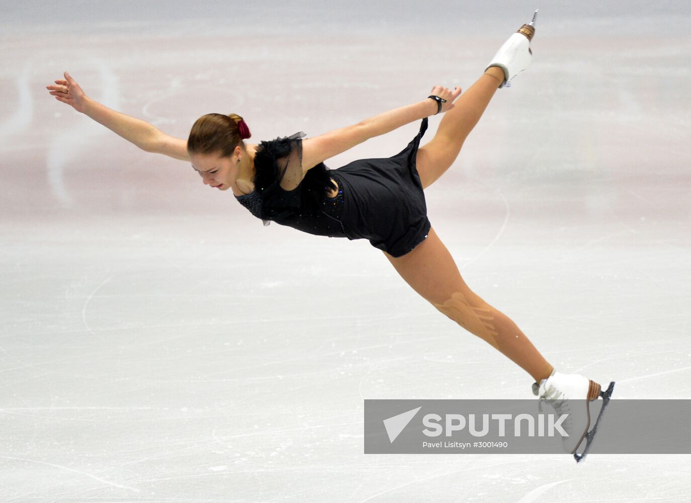
[[[602,391],[600,385],[580,374],[562,374],[554,370],[547,379],[542,379],[540,384],[533,383],[533,395],[540,395],[540,412],[542,404],[547,404],[558,415],[567,414],[562,426],[568,437],[562,437],[562,446],[567,453],[576,458],[576,462],[583,459],[590,448],[590,444],[597,432],[600,418],[605,412],[614,390],[614,382],[609,383],[609,388]],[[592,429],[590,428],[590,403],[603,398],[603,406]],[[576,449],[586,439],[586,446],[582,454],[577,454]]]

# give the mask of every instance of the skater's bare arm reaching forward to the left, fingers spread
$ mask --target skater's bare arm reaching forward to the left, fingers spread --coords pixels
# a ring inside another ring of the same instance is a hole
[[[173,159],[189,161],[187,140],[167,135],[148,122],[116,112],[94,101],[82,91],[79,84],[67,72],[64,79],[56,80],[54,86],[46,86],[46,88],[58,101],[91,117],[140,149],[146,152],[162,153]]]

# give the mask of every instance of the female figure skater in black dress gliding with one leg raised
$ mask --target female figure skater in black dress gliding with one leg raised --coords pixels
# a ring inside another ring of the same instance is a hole
[[[304,140],[304,133],[296,133],[245,143],[250,133],[242,117],[217,113],[200,117],[183,140],[93,101],[68,73],[47,88],[60,102],[144,151],[191,162],[204,184],[231,190],[265,225],[274,221],[310,234],[368,239],[437,310],[530,374],[540,399],[561,408],[560,413],[568,412],[565,399],[585,404],[580,415],[572,411],[563,424],[569,433],[565,450],[575,453],[586,435],[588,444],[591,440],[589,401],[609,396],[586,377],[556,372],[511,319],[466,285],[430,225],[424,198],[424,189],[453,164],[497,89],[527,68],[529,44],[527,35],[515,33],[463,95],[460,88],[434,86],[430,97],[414,104]],[[437,113],[445,113],[437,133],[419,147],[428,115]],[[332,170],[323,164],[370,137],[417,120],[422,120],[419,134],[391,158],[356,160]]]

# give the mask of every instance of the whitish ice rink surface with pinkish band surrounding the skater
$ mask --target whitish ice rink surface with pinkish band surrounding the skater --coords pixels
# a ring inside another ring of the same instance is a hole
[[[365,241],[263,227],[45,89],[68,70],[179,137],[212,111],[317,135],[467,88],[540,8],[533,64],[426,191],[430,220],[560,370],[688,399],[683,2],[0,6],[0,503],[688,500],[688,456],[363,455],[363,399],[531,379]]]

